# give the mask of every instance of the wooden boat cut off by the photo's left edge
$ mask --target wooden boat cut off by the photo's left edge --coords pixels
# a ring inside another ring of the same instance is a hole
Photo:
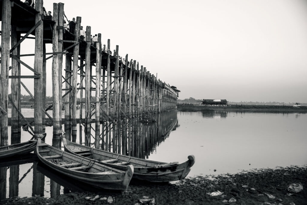
[[[6,145],[0,147],[0,159],[5,157],[13,157],[33,152],[36,149],[37,140],[29,140],[14,145]]]

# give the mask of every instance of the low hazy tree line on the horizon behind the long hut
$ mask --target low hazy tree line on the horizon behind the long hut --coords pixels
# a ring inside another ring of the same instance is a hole
[[[184,100],[180,100],[178,99],[177,100],[177,103],[192,103],[192,104],[199,104],[197,103],[197,101],[203,101],[203,99],[195,99],[195,98],[186,98]],[[297,103],[297,102],[295,102]],[[228,104],[231,104],[231,105],[235,105],[235,104],[239,104],[239,105],[294,105],[295,103],[286,103],[286,102],[282,102],[282,103],[279,103],[279,102],[252,102],[252,101],[240,101],[240,102],[233,102],[233,101],[229,101]],[[300,103],[301,106],[307,106],[307,103]]]

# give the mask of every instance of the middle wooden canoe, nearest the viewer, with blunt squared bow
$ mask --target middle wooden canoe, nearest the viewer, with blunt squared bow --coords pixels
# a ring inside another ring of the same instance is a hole
[[[132,165],[126,166],[126,171],[118,170],[92,159],[56,149],[40,139],[36,152],[39,160],[49,168],[98,188],[125,191],[133,175]]]

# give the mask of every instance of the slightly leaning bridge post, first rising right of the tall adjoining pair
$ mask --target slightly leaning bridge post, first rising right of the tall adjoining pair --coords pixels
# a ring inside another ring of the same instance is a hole
[[[74,31],[75,42],[79,40],[81,17],[77,17],[76,28]],[[71,91],[71,109],[72,109],[72,137],[77,134],[77,70],[78,70],[79,44],[74,46],[73,62],[72,62],[72,91]],[[81,112],[81,110],[80,110]]]

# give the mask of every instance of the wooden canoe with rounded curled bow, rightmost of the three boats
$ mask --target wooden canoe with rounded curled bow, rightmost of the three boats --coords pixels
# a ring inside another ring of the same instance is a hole
[[[71,142],[64,137],[62,137],[62,141],[67,152],[75,153],[88,159],[94,159],[100,164],[120,170],[126,170],[126,165],[131,164],[134,166],[133,179],[150,182],[182,180],[188,175],[195,162],[193,155],[189,155],[188,161],[182,164],[178,162],[164,163],[87,147]]]

